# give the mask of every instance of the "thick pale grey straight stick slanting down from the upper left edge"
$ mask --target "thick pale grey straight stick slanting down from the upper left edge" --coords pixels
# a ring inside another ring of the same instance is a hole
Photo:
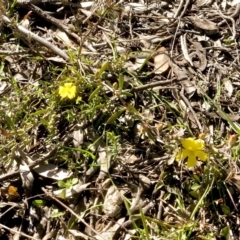
[[[12,23],[10,21],[10,19],[4,15],[2,15],[2,19],[5,23]],[[54,53],[56,53],[57,55],[61,56],[63,59],[65,60],[69,60],[69,56],[65,53],[65,51],[61,50],[60,48],[54,46],[53,44],[51,44],[50,42],[48,42],[47,40],[43,39],[42,37],[39,37],[38,35],[36,35],[35,33],[32,33],[31,31],[27,30],[26,28],[24,28],[23,26],[20,25],[16,25],[14,24],[14,27],[17,28],[17,30],[23,34],[24,36],[26,36],[27,38],[33,39],[37,42],[39,42],[40,44],[42,44],[43,46],[47,47],[48,49],[52,50]]]

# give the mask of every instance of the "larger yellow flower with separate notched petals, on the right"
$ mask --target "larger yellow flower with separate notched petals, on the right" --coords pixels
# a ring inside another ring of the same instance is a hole
[[[176,155],[176,160],[184,160],[188,158],[187,167],[194,167],[197,164],[197,158],[202,161],[206,161],[208,154],[203,151],[205,147],[202,139],[185,138],[181,140],[183,148],[180,149]]]

